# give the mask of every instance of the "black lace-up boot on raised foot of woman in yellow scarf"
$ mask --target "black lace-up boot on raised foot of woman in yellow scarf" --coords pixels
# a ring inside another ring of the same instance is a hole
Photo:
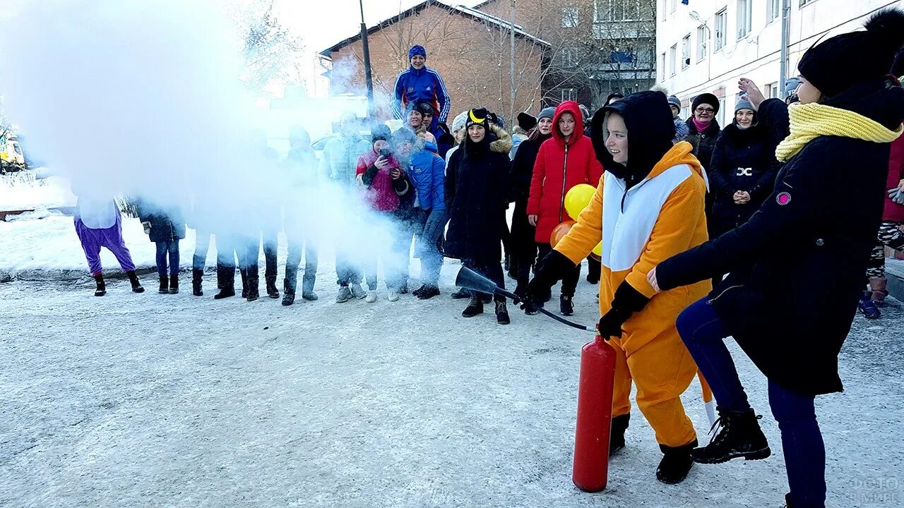
[[[766,436],[759,428],[758,419],[762,417],[758,417],[753,409],[739,412],[717,407],[716,410],[719,419],[712,424],[712,429],[720,427],[719,433],[709,445],[693,450],[694,462],[721,464],[741,456],[746,460],[759,460],[772,455]]]

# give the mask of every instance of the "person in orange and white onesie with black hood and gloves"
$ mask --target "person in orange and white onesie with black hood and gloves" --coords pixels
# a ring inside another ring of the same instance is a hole
[[[577,223],[543,259],[525,290],[524,308],[539,304],[602,240],[599,334],[617,353],[610,454],[625,446],[633,381],[637,407],[664,454],[656,478],[677,484],[690,471],[697,446],[681,402],[697,366],[675,330],[675,318],[711,285],[704,281],[656,294],[646,274],[707,240],[707,184],[692,146],[672,145],[671,109],[661,92],[638,92],[599,109],[591,128],[606,173]]]

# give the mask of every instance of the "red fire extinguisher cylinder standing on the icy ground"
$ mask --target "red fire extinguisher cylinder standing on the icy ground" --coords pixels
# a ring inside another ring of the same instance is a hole
[[[580,353],[578,428],[571,481],[585,492],[606,488],[615,374],[616,353],[597,335]]]

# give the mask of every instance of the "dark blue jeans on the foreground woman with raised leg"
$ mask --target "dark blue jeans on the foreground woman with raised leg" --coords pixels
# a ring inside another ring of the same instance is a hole
[[[750,408],[724,339],[728,327],[703,298],[678,315],[678,333],[709,381],[721,409]],[[825,506],[825,446],[816,422],[814,397],[769,381],[769,407],[782,433],[791,502],[795,507]]]

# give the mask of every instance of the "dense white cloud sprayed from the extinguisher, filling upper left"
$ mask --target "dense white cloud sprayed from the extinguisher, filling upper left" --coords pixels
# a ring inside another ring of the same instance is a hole
[[[304,198],[251,143],[251,130],[268,126],[240,82],[242,33],[226,10],[205,0],[14,2],[0,19],[6,113],[77,195],[126,193],[212,230],[281,230],[279,204]],[[316,194],[302,219],[309,234],[385,251],[385,229],[367,226],[356,196],[328,185]],[[350,216],[360,221],[341,219]]]

